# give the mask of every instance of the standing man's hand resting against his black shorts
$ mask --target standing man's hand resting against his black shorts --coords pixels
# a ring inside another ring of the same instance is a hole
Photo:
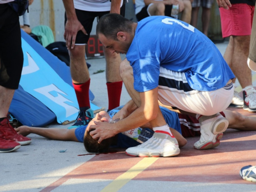
[[[75,47],[76,34],[80,30],[87,35],[86,30],[83,28],[78,19],[67,20],[64,38],[66,40],[66,46],[68,49],[73,49]]]

